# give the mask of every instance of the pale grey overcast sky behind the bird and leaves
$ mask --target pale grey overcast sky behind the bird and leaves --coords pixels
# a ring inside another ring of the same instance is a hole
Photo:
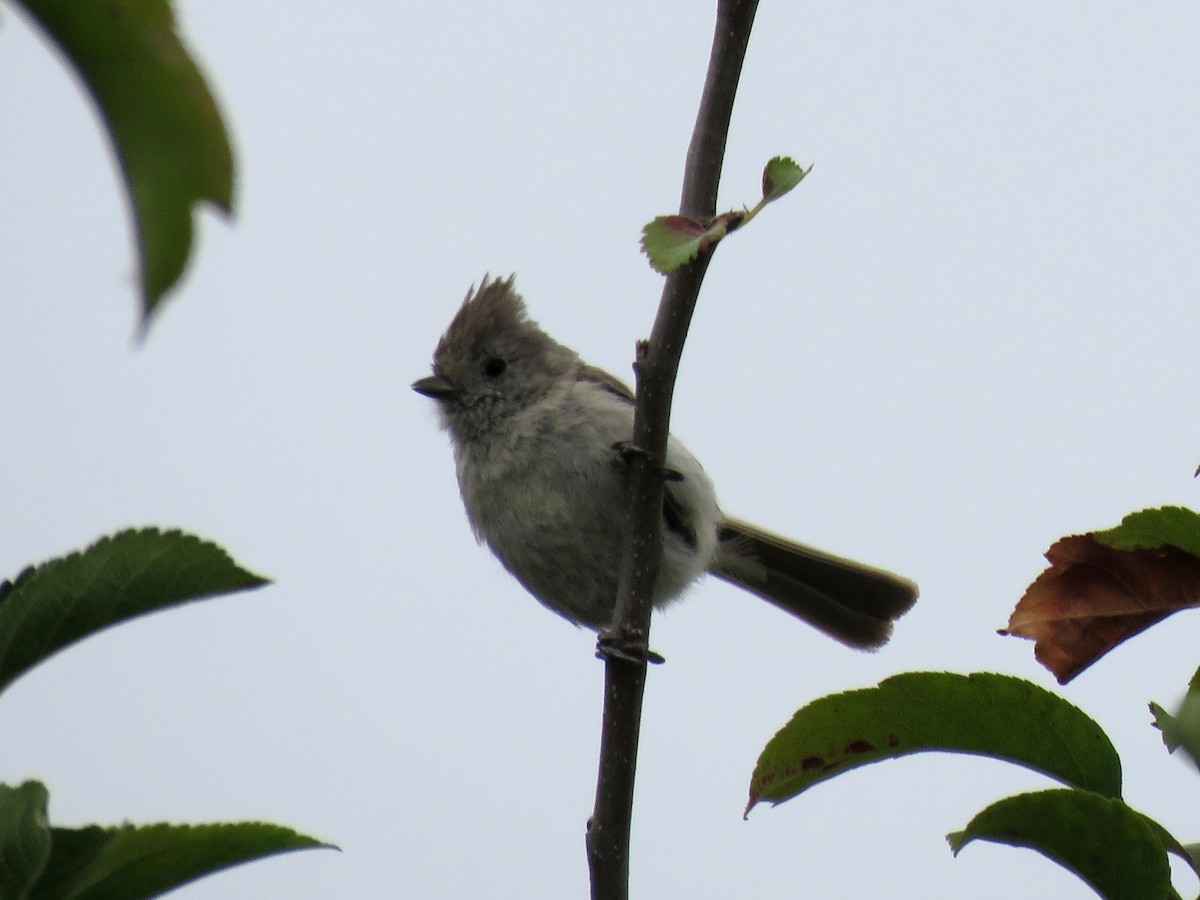
[[[0,697],[0,779],[52,818],[263,818],[335,841],[178,892],[581,898],[602,667],[476,547],[410,382],[463,293],[629,374],[661,278],[709,4],[176,4],[230,124],[232,224],[137,347],[128,216],[71,74],[0,7],[0,577],[134,524],[276,583],[72,648]],[[742,821],[796,708],[900,671],[1054,686],[996,636],[1042,552],[1200,504],[1200,7],[767,0],[722,182],[815,163],[720,247],[673,431],[725,509],[916,578],[877,654],[708,581],[656,617],[634,830],[649,898],[1087,898],[943,840],[1051,786],[985,760],[860,769]],[[1146,702],[1182,613],[1062,689],[1126,798],[1195,840]],[[1190,830],[1189,830],[1190,829]],[[1195,881],[1181,875],[1184,892]]]

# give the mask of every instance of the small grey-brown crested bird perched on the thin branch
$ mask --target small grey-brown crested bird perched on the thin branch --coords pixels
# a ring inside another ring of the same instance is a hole
[[[578,625],[610,624],[629,503],[619,448],[634,396],[532,322],[512,278],[472,289],[413,390],[438,402],[476,539],[535,598]],[[854,647],[878,647],[917,599],[907,578],[731,518],[672,437],[655,606],[701,574],[745,588]]]

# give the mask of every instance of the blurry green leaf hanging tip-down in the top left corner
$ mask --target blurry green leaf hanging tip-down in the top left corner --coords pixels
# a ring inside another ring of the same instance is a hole
[[[232,210],[221,113],[168,0],[14,1],[76,68],[113,140],[137,232],[144,331],[187,265],[193,208]]]

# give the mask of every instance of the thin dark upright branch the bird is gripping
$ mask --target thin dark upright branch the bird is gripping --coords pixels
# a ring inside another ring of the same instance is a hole
[[[716,190],[742,62],[758,0],[719,0],[704,92],[688,149],[679,209],[704,218],[716,212]],[[611,634],[646,648],[650,602],[662,557],[662,460],[683,343],[712,251],[671,275],[648,342],[638,344],[637,408],[631,455],[625,554]],[[646,662],[610,655],[605,664],[604,722],[595,809],[588,821],[593,900],[628,900],[629,834],[641,730]]]

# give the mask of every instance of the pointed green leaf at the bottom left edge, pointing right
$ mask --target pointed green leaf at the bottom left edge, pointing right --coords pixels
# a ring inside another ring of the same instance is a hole
[[[68,893],[61,893],[60,886],[43,880],[44,886],[38,883],[30,900],[158,896],[202,876],[253,859],[295,850],[332,848],[330,844],[290,828],[263,822],[55,828],[54,844],[55,848],[61,844],[73,854],[73,882]],[[79,859],[88,860],[85,870],[79,868]],[[52,853],[48,877],[60,860],[60,856]]]

